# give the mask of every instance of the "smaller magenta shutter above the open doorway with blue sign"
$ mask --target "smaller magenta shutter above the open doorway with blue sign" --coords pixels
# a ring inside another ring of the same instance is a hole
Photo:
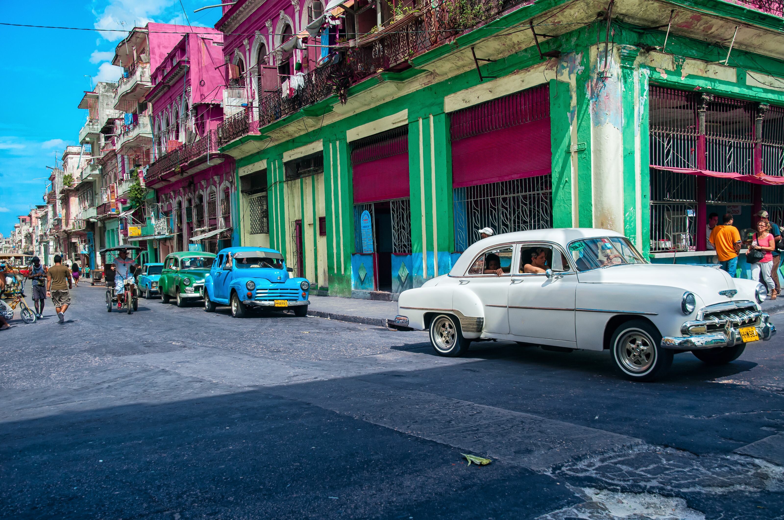
[[[406,127],[397,128],[354,144],[354,204],[409,196],[407,131]]]

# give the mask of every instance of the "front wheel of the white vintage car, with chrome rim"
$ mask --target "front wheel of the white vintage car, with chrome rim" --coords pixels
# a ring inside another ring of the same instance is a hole
[[[631,320],[615,329],[610,341],[615,367],[632,381],[653,381],[673,364],[673,351],[659,345],[662,334],[651,323]]]

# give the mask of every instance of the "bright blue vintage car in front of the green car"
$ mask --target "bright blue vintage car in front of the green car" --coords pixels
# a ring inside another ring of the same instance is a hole
[[[217,305],[230,305],[231,316],[242,318],[249,307],[291,308],[296,316],[307,316],[310,283],[290,277],[293,271],[274,249],[222,249],[205,278],[204,309],[215,312]]]

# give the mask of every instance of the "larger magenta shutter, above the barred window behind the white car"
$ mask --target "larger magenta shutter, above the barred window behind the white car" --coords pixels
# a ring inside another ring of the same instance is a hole
[[[477,186],[550,173],[547,85],[493,99],[451,116],[452,186]]]

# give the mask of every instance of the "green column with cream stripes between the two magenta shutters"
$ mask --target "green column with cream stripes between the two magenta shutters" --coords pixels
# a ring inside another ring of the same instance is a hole
[[[452,145],[447,114],[409,114],[408,182],[414,287],[452,269]]]

